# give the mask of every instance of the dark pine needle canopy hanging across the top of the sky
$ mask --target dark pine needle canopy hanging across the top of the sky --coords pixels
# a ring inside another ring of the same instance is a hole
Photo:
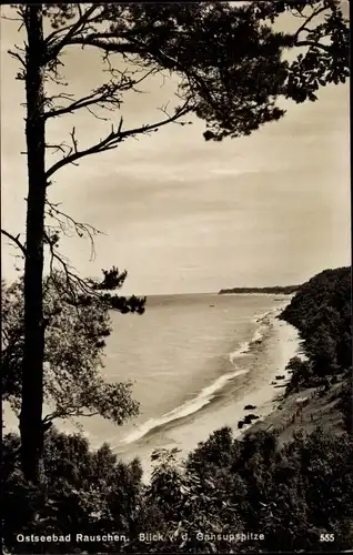
[[[283,117],[278,97],[315,101],[321,87],[345,82],[350,75],[349,28],[340,3],[305,3],[306,10],[289,1],[107,3],[93,9],[69,38],[62,29],[78,16],[75,4],[65,10],[47,4],[43,13],[54,29],[47,57],[56,65],[63,47],[90,44],[134,56],[153,71],[178,73],[180,98],[206,123],[204,139],[220,141]],[[270,27],[284,12],[297,19],[292,33]],[[304,52],[289,63],[283,53],[297,47]],[[124,85],[130,84],[125,79]],[[100,92],[104,102],[115,100],[115,90],[104,85]]]

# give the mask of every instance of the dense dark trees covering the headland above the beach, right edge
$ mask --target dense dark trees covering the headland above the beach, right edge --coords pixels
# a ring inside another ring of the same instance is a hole
[[[289,392],[317,384],[330,385],[337,376],[346,380],[351,375],[351,268],[325,270],[309,280],[281,317],[300,331],[307,359],[290,362],[293,374]]]

